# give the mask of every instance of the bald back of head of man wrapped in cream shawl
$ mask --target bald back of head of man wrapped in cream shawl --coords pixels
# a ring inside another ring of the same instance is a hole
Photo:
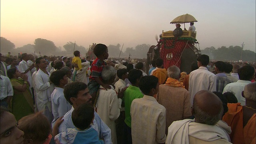
[[[223,113],[222,101],[213,92],[201,90],[194,96],[192,114],[195,122],[215,125]]]

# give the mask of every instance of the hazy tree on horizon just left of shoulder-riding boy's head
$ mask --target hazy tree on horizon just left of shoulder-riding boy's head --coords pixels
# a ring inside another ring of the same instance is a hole
[[[74,46],[75,46],[75,50],[78,50],[81,54],[82,57],[86,56],[86,52],[88,51],[86,48],[84,48],[84,46],[78,46],[77,44],[74,44],[73,42],[67,42],[67,44],[65,44],[63,46],[63,48],[65,48],[66,52],[69,55],[73,55],[74,53]]]

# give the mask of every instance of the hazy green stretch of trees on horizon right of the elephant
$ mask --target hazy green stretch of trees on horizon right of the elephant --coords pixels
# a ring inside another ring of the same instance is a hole
[[[252,61],[255,62],[255,52],[250,50],[242,50],[240,46],[222,46],[220,48],[214,48],[213,46],[210,48],[205,48],[201,50],[202,54],[206,54],[210,56],[211,60],[234,60],[238,61],[241,58],[242,53],[242,60],[243,61]]]

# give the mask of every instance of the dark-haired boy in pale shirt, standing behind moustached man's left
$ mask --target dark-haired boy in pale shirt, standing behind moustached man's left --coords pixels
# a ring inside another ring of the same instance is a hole
[[[51,101],[52,101],[52,114],[54,119],[52,121],[52,127],[56,120],[64,116],[70,109],[71,105],[64,97],[64,86],[68,84],[68,77],[64,70],[56,70],[52,72],[50,76],[50,80],[55,85],[55,89],[51,94]]]

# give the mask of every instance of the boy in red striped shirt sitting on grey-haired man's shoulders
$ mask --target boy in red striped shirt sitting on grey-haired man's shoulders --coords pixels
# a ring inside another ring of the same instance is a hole
[[[97,57],[90,67],[91,75],[89,78],[88,88],[90,91],[90,95],[92,96],[92,104],[94,106],[97,103],[96,93],[98,92],[100,86],[104,88],[111,89],[110,85],[104,84],[101,78],[101,71],[107,63],[104,61],[108,59],[108,47],[105,44],[96,44],[93,48],[93,53]]]

